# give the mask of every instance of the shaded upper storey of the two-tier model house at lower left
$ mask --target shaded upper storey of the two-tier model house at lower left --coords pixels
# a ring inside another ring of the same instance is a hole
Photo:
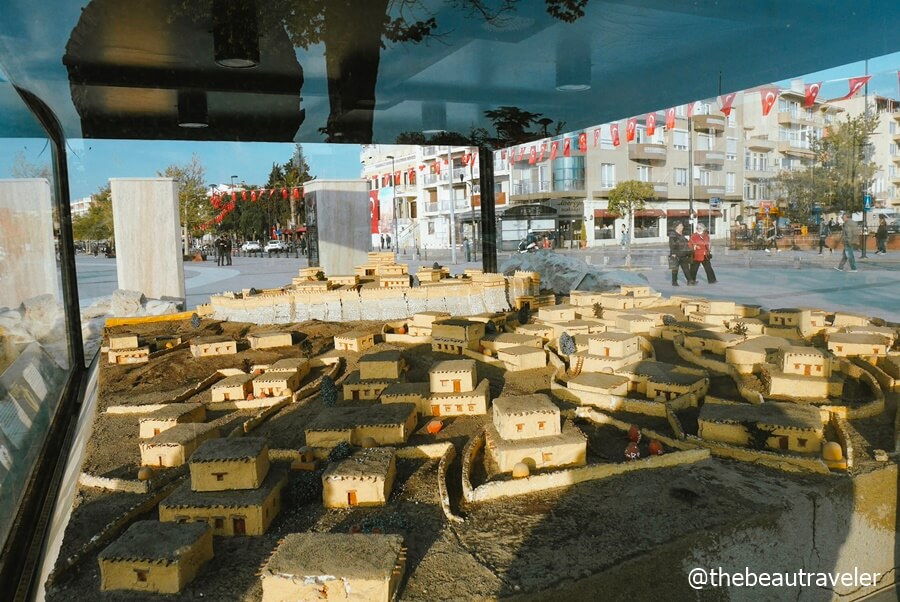
[[[263,437],[220,437],[191,455],[191,489],[256,489],[269,474],[269,444]]]

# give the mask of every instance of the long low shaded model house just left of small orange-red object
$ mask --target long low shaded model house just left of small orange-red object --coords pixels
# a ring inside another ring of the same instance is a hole
[[[306,444],[334,447],[342,441],[362,445],[371,437],[377,445],[402,445],[416,428],[416,406],[389,403],[325,408],[306,427]]]

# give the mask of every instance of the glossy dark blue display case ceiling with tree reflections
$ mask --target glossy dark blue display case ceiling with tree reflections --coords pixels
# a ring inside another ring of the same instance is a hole
[[[390,143],[435,104],[464,134],[502,105],[573,130],[900,50],[896,0],[589,0],[574,23],[548,14],[557,0],[497,20],[474,0],[258,0],[259,66],[228,69],[211,14],[234,1],[249,0],[9,0],[0,65],[69,137]],[[387,40],[401,5],[436,35]],[[561,68],[590,89],[558,91]],[[184,88],[208,92],[208,128],[177,127]]]

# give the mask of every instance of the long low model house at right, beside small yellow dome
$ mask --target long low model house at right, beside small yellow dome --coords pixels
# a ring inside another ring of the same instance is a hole
[[[704,404],[701,439],[743,447],[818,454],[824,439],[820,410],[793,403]]]

